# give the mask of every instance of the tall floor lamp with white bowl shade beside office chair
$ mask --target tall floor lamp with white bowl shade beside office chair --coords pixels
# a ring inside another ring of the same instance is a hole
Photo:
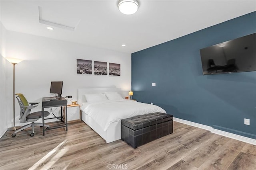
[[[14,59],[14,58],[5,58],[8,60],[10,63],[13,65],[13,127],[7,128],[7,131],[15,131],[17,129],[20,129],[21,126],[15,126],[15,102],[14,102],[14,94],[15,94],[15,64],[20,63],[22,60],[21,59]]]

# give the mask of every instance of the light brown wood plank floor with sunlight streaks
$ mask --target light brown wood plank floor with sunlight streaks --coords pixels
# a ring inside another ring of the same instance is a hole
[[[121,140],[106,144],[83,122],[30,133],[7,131],[0,139],[1,170],[256,170],[255,145],[178,122],[173,134],[137,149]]]

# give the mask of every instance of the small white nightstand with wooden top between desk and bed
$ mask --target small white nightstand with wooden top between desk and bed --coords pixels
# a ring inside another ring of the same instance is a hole
[[[81,121],[80,117],[80,105],[74,104],[74,105],[68,105],[68,122],[74,122],[74,121]]]

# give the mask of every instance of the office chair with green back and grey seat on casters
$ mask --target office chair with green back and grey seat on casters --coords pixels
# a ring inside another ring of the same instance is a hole
[[[16,98],[20,105],[20,123],[27,123],[27,122],[32,122],[32,123],[22,126],[22,128],[18,129],[17,131],[15,131],[12,134],[12,137],[15,137],[16,133],[18,133],[19,131],[22,131],[28,127],[32,127],[32,133],[30,134],[30,136],[33,137],[34,136],[34,127],[35,126],[43,126],[42,123],[35,123],[35,121],[42,118],[43,112],[36,111],[36,112],[30,113],[31,109],[35,108],[37,106],[36,104],[39,104],[39,102],[28,103],[28,101],[23,96],[23,94],[17,93],[15,95],[17,95]],[[31,104],[31,105],[29,106],[29,104]],[[44,117],[47,117],[48,115],[50,115],[50,113],[48,111],[44,111]],[[46,127],[46,129],[50,128],[49,125],[44,125],[44,126]]]

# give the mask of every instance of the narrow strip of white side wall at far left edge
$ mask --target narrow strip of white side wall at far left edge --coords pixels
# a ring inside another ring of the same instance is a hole
[[[6,29],[0,22],[0,137],[4,135],[7,129],[7,114],[6,114]]]

